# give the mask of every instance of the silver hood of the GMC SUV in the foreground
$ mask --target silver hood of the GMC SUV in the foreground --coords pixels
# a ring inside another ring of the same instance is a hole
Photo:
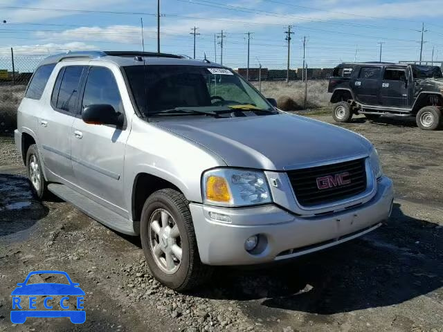
[[[284,170],[368,155],[356,133],[289,113],[238,118],[165,118],[156,125],[213,151],[228,166]]]

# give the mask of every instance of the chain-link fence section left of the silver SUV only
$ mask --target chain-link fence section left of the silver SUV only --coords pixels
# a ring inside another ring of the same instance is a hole
[[[44,55],[0,55],[0,132],[17,127],[17,107]]]

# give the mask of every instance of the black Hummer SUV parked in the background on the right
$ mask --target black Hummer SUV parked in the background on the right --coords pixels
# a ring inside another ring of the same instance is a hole
[[[437,66],[382,62],[343,63],[329,78],[332,116],[347,122],[352,114],[414,116],[421,129],[443,124],[443,76]]]

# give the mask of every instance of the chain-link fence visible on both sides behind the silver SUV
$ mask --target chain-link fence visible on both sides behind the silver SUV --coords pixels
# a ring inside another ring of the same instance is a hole
[[[26,85],[46,55],[0,55],[0,132],[17,127],[17,108]],[[285,111],[327,107],[327,79],[332,68],[239,68],[226,64],[251,82],[266,98],[274,98]]]

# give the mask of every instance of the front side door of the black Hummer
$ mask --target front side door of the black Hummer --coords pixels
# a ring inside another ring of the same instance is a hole
[[[381,80],[380,103],[386,106],[408,106],[406,68],[386,67]]]

